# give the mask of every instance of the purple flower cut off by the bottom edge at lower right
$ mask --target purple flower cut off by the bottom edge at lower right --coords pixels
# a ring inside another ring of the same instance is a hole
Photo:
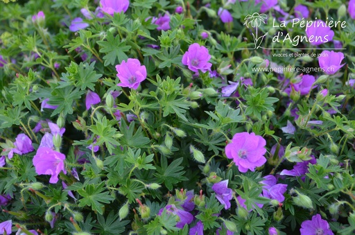
[[[322,220],[320,214],[312,216],[312,220],[306,220],[302,222],[301,235],[333,235],[334,233],[329,228],[327,220]]]

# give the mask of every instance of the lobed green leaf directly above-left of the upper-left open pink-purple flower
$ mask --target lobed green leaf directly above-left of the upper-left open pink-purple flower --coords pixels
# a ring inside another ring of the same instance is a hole
[[[100,49],[101,53],[107,53],[103,59],[105,60],[105,66],[116,63],[116,59],[119,59],[121,63],[122,60],[127,60],[128,56],[125,54],[125,51],[128,51],[131,46],[126,46],[125,42],[120,42],[119,35],[112,35],[110,31],[107,31],[107,41],[98,41],[102,48]]]

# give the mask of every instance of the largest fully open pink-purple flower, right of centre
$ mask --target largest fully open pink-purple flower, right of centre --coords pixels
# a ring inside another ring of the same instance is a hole
[[[234,134],[230,143],[225,146],[225,155],[233,159],[239,171],[245,173],[255,171],[255,167],[263,166],[266,158],[266,141],[263,137],[255,135],[254,132],[241,132]]]

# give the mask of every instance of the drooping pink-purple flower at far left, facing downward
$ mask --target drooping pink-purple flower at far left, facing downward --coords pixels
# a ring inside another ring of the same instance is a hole
[[[64,154],[48,147],[41,147],[33,157],[33,166],[35,166],[38,175],[51,175],[49,182],[56,184],[60,171],[67,173],[64,168],[64,160]]]

